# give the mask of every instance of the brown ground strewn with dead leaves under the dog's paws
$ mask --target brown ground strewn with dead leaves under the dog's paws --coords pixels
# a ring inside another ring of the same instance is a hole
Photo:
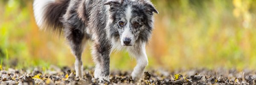
[[[110,82],[93,77],[93,68],[84,68],[84,78],[75,77],[73,68],[29,68],[0,71],[0,85],[255,85],[256,71],[244,69],[191,69],[167,71],[145,70],[140,80],[133,80],[131,71],[111,71]]]

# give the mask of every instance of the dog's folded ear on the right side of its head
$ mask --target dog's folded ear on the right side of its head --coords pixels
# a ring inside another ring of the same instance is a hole
[[[143,2],[144,3],[144,5],[145,5],[145,11],[146,12],[149,12],[150,14],[153,14],[153,12],[154,13],[159,13],[158,11],[157,11],[157,9],[154,7],[154,5],[150,2],[150,0],[140,0],[141,2]]]

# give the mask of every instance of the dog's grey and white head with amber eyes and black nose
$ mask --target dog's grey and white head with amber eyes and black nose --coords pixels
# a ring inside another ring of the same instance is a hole
[[[154,13],[158,13],[149,0],[110,0],[108,37],[132,46],[136,42],[148,42],[154,24]]]

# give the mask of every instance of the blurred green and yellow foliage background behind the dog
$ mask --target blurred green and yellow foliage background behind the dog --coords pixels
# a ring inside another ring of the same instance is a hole
[[[256,0],[152,0],[154,34],[147,68],[256,69]],[[93,66],[90,45],[84,66]],[[73,66],[65,39],[35,24],[32,0],[0,0],[0,66]],[[111,69],[132,70],[125,51],[111,54]]]

